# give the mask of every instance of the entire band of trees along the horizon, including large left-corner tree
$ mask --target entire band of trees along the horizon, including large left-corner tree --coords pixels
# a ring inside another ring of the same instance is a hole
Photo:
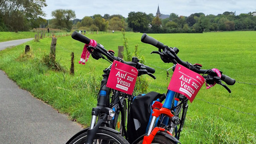
[[[218,15],[194,13],[179,16],[170,13],[166,19],[155,17],[152,13],[130,12],[128,17],[122,15],[95,14],[75,19],[72,10],[58,9],[52,11],[53,19],[42,18],[45,13],[46,0],[2,0],[0,1],[0,31],[29,31],[39,26],[62,29],[65,31],[126,31],[146,33],[202,33],[210,31],[256,30],[256,12],[224,12]]]

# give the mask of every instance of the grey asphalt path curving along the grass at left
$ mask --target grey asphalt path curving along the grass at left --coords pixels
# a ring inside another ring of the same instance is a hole
[[[0,50],[16,42],[0,42]],[[81,129],[67,115],[20,89],[0,70],[0,143],[66,143]]]

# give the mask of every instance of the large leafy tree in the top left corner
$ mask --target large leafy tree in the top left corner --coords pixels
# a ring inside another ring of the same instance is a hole
[[[28,31],[39,16],[45,16],[42,11],[46,0],[2,0],[0,1],[0,16],[5,28],[10,31]],[[30,25],[31,24],[31,25]],[[38,25],[39,26],[39,25]]]

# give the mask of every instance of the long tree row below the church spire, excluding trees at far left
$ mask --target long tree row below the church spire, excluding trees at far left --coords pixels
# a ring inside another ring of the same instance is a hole
[[[256,12],[255,12],[256,14]],[[224,12],[218,15],[194,13],[178,16],[170,13],[169,18],[160,19],[152,13],[130,12],[127,18],[121,15],[86,16],[76,19],[73,28],[91,31],[121,30],[146,33],[203,33],[210,31],[256,30],[256,16],[253,13],[236,15]]]

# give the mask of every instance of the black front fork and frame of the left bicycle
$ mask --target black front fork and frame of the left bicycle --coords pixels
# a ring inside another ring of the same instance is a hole
[[[103,70],[103,72],[104,74],[102,75],[103,79],[101,81],[97,107],[92,109],[91,126],[90,126],[90,129],[88,130],[88,139],[87,139],[88,143],[92,143],[93,137],[100,126],[106,126],[116,131],[115,118],[118,117],[120,112],[121,112],[121,126],[124,128],[122,133],[127,138],[127,132],[125,130],[125,123],[124,123],[124,113],[122,111],[124,109],[122,107],[122,102],[124,101],[125,98],[130,98],[130,95],[120,92],[118,90],[113,90],[114,93],[112,95],[112,98],[110,98],[111,88],[106,87],[106,82],[108,81],[109,75],[110,75],[110,68],[106,68],[105,70]],[[112,100],[111,102],[110,102],[110,99]],[[99,118],[98,118],[98,122],[96,123],[97,116],[99,116]],[[120,134],[120,132],[118,133]]]

